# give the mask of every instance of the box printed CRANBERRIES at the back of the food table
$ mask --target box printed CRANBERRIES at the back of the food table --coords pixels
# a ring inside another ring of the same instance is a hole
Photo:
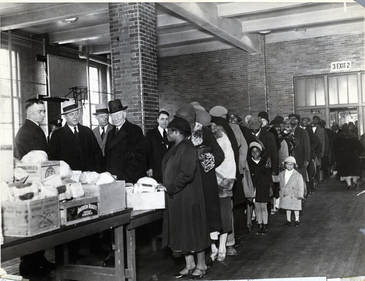
[[[19,162],[15,167],[22,168],[29,173],[26,182],[42,180],[51,175],[60,174],[60,161],[46,161],[42,163],[22,163]]]

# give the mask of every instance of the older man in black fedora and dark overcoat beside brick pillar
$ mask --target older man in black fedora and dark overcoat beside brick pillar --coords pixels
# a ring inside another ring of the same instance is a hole
[[[136,183],[146,175],[146,143],[142,129],[126,120],[128,106],[119,99],[109,101],[109,114],[114,128],[108,133],[105,144],[105,170],[118,180]],[[115,262],[114,251],[101,262],[103,266]]]

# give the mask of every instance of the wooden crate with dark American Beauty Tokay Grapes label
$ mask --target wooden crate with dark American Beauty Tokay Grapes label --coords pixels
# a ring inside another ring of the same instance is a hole
[[[61,225],[99,217],[98,197],[80,197],[60,203]]]

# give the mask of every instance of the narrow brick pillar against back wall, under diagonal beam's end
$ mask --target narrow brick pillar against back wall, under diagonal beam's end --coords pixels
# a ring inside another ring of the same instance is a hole
[[[250,112],[268,112],[266,93],[265,35],[260,35],[260,52],[247,55],[247,80]]]

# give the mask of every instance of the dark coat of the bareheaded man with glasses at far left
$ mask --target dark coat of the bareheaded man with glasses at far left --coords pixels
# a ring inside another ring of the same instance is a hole
[[[43,130],[29,119],[25,119],[15,137],[20,158],[32,150],[43,150],[48,154],[48,144]]]

